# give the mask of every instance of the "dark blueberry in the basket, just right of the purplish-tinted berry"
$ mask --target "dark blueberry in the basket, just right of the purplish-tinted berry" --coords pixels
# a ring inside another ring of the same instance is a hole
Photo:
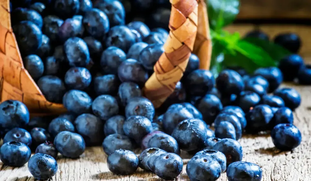
[[[110,28],[108,16],[97,8],[87,11],[82,21],[88,34],[98,39],[102,39]]]

